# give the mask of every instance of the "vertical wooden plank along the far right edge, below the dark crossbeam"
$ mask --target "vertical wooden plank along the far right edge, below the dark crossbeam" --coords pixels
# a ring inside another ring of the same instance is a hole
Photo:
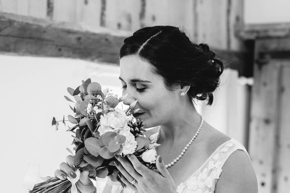
[[[277,164],[277,192],[290,190],[290,57],[281,60],[282,74],[279,89],[279,136],[278,136],[278,164]]]

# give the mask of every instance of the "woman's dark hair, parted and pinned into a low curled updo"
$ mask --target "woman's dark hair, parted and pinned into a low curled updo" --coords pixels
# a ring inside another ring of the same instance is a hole
[[[153,73],[164,79],[168,90],[178,85],[190,86],[191,99],[213,102],[213,92],[220,83],[223,63],[207,44],[192,43],[178,27],[144,27],[124,40],[120,59],[126,55],[137,55],[155,68]]]

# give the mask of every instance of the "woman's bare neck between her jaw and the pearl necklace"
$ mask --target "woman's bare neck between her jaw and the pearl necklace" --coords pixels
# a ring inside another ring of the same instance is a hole
[[[168,143],[170,147],[180,140],[189,141],[201,123],[201,117],[193,104],[180,107],[171,117],[173,118],[169,122],[160,125],[161,133],[158,140],[158,143]]]

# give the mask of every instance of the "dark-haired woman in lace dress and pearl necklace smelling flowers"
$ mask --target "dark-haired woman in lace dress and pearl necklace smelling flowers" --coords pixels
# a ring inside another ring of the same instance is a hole
[[[134,155],[130,161],[117,158],[124,192],[257,192],[243,145],[203,121],[193,105],[193,99],[212,104],[223,72],[223,63],[206,44],[192,43],[177,27],[145,27],[124,40],[120,69],[123,95],[128,93],[124,104],[138,100],[135,117],[147,128],[154,127],[147,136],[159,132],[161,144],[156,158],[159,172],[147,169]],[[74,176],[74,166],[69,167],[72,157],[67,163],[60,165],[57,177]],[[87,175],[82,172],[77,182],[82,193],[94,192]],[[106,185],[103,192],[111,192],[111,187]]]

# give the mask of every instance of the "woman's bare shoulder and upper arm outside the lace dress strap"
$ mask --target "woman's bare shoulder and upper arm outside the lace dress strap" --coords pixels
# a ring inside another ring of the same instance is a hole
[[[227,158],[214,192],[258,192],[256,174],[245,151],[235,150]]]

